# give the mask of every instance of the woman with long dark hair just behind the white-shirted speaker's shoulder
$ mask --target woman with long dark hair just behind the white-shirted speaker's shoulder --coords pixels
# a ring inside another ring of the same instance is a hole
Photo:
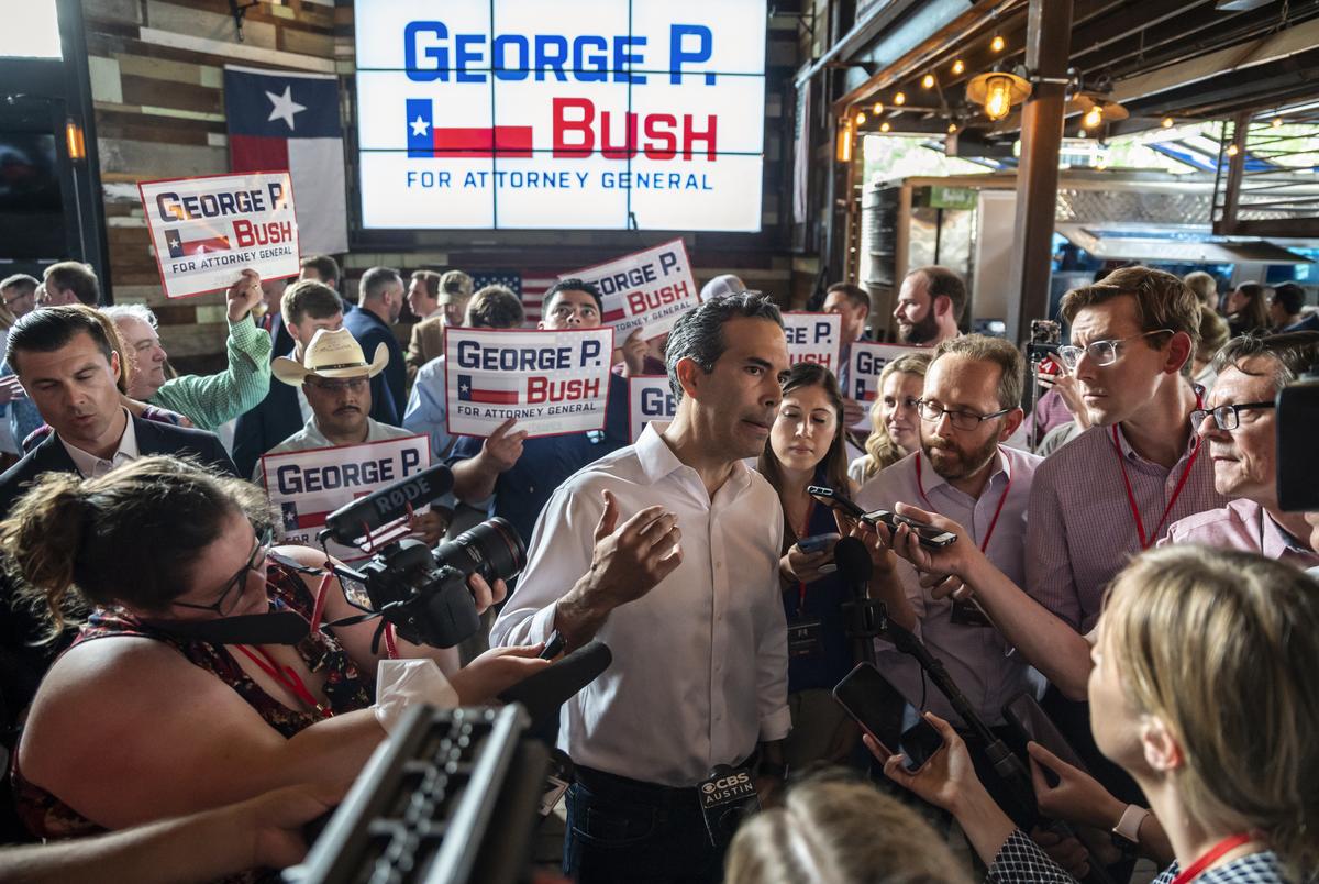
[[[851,592],[834,573],[838,525],[832,512],[816,507],[806,493],[809,486],[827,486],[847,496],[855,491],[847,478],[844,431],[843,393],[834,373],[814,363],[793,365],[758,464],[783,505],[778,574],[789,629],[787,705],[793,732],[783,745],[789,768],[843,761],[859,738],[830,697],[855,662],[840,607]],[[807,552],[798,545],[822,534],[831,536],[822,549]]]

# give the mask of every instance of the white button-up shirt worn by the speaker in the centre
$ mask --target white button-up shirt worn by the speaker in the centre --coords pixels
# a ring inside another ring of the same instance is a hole
[[[778,740],[790,728],[778,595],[783,516],[774,489],[743,463],[711,500],[662,431],[652,422],[634,446],[554,492],[491,644],[553,633],[555,603],[590,570],[605,488],[619,501],[619,525],[657,504],[675,513],[682,563],[609,614],[596,637],[613,664],[565,703],[558,743],[580,765],[691,786],[715,765],[745,759],[757,739]]]

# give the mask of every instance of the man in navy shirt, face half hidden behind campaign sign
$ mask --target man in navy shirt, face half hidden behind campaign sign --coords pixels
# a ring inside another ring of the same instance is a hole
[[[537,329],[598,329],[603,325],[603,300],[590,282],[561,280],[545,293]],[[528,439],[509,418],[487,438],[463,437],[454,446],[454,496],[492,516],[503,516],[526,541],[550,495],[574,472],[623,447],[628,430],[628,383],[609,375],[608,424],[604,430],[547,435]]]

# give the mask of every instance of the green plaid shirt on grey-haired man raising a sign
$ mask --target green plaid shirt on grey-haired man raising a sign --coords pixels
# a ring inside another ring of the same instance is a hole
[[[256,408],[270,391],[270,332],[252,315],[230,325],[226,342],[230,364],[218,375],[182,375],[165,381],[152,405],[187,417],[202,430],[214,430]]]

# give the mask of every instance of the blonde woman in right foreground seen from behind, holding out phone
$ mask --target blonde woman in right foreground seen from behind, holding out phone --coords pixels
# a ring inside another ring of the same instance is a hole
[[[1155,884],[1299,884],[1319,868],[1319,586],[1253,553],[1171,546],[1115,579],[1088,681],[1100,751],[1149,797],[1175,862]],[[1072,879],[989,798],[956,732],[885,773],[956,817],[989,880]],[[871,747],[874,751],[874,747]],[[1038,764],[1050,759],[1033,751]],[[1047,792],[1042,797],[1047,800]],[[1117,806],[1103,822],[1115,830]],[[1145,839],[1145,826],[1138,827]]]

